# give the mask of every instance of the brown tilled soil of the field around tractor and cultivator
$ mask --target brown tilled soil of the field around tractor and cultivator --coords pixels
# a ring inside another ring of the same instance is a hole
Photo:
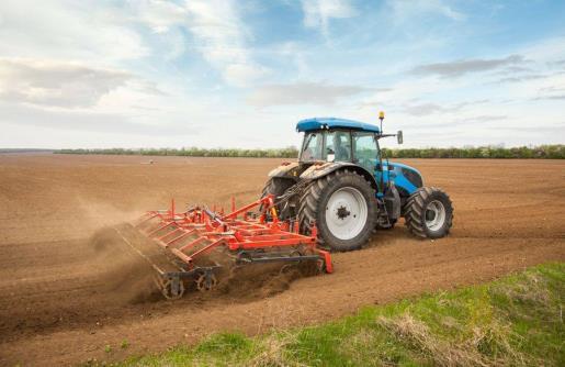
[[[418,241],[399,223],[362,251],[335,254],[334,275],[245,269],[242,279],[258,280],[162,301],[113,226],[171,197],[251,201],[279,160],[152,159],[0,155],[0,365],[116,360],[217,331],[312,324],[565,259],[565,162],[407,159],[450,193],[449,237]]]

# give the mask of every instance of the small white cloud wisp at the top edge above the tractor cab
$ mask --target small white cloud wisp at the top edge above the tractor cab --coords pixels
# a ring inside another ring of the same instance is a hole
[[[329,21],[331,19],[352,18],[357,10],[348,0],[302,0],[304,11],[304,25],[317,29],[329,36]]]

